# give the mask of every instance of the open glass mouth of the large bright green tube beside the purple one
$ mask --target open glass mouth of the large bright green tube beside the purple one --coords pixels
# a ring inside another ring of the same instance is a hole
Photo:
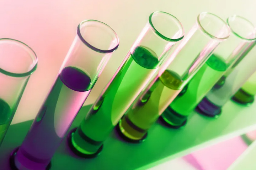
[[[177,42],[185,35],[181,22],[173,15],[156,11],[149,16],[149,24],[154,32],[166,41]]]

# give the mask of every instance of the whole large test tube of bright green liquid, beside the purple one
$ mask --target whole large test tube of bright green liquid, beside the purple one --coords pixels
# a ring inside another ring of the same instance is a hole
[[[89,114],[70,132],[69,146],[80,157],[98,155],[103,142],[156,73],[172,46],[184,36],[178,19],[153,12]]]

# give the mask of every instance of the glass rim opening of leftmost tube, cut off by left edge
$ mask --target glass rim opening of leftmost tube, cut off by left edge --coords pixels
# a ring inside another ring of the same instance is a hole
[[[36,53],[25,43],[0,39],[0,73],[11,77],[26,77],[37,68]]]

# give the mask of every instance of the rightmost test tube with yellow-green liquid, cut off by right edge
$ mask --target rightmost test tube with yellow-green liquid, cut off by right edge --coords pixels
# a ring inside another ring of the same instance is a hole
[[[247,66],[246,69],[247,68],[249,67]],[[252,66],[252,68],[255,68],[255,66]],[[245,84],[242,85],[242,87],[233,96],[232,100],[240,104],[248,105],[254,102],[255,95],[256,95],[256,73],[252,74],[251,77],[245,82]]]

